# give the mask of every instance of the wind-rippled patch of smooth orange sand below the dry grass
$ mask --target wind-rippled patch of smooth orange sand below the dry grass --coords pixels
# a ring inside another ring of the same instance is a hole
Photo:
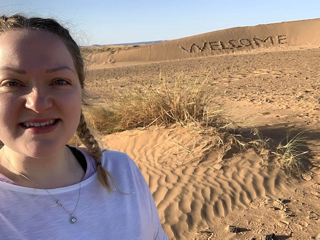
[[[180,138],[189,140],[184,129],[174,129],[179,130]],[[216,217],[259,207],[256,199],[275,198],[287,187],[281,183],[283,173],[262,167],[253,151],[220,162],[219,169],[213,167],[213,157],[207,157],[205,166],[189,164],[172,144],[171,133],[166,128],[133,130],[103,139],[105,147],[126,152],[138,164],[169,238],[189,239],[199,227],[212,226]]]

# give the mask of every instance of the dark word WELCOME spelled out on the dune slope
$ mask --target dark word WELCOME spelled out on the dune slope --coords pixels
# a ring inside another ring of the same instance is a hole
[[[276,41],[274,41],[274,38]],[[277,35],[276,37],[267,36],[264,39],[260,39],[257,37],[252,37],[251,39],[248,38],[241,38],[238,40],[228,40],[226,41],[205,41],[203,42],[202,46],[197,45],[196,43],[192,43],[189,50],[185,49],[183,46],[179,46],[182,50],[185,50],[189,53],[196,52],[198,50],[205,51],[205,50],[223,50],[223,49],[234,49],[239,47],[251,47],[260,46],[264,43],[271,43],[274,44],[277,42],[278,44],[284,44],[286,42],[286,35]]]

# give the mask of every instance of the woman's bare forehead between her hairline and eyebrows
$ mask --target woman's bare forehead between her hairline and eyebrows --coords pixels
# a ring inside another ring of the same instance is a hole
[[[16,68],[52,68],[73,65],[62,40],[52,33],[14,29],[0,34],[0,66]],[[22,69],[23,69],[22,68]]]

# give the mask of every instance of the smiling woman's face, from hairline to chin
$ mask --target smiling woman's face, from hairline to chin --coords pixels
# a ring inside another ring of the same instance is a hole
[[[79,122],[81,87],[73,59],[51,33],[0,34],[0,140],[32,157],[54,154]]]

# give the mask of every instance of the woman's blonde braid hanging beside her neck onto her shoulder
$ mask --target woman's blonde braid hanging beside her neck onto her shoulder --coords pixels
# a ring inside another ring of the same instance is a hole
[[[82,111],[80,115],[79,125],[76,128],[76,134],[80,138],[80,141],[88,148],[88,152],[93,156],[93,158],[97,162],[97,173],[99,181],[110,192],[112,189],[109,179],[111,180],[114,186],[112,177],[110,173],[106,169],[104,169],[103,166],[100,164],[102,158],[101,148],[99,147],[97,140],[95,140],[94,136],[87,127]]]

